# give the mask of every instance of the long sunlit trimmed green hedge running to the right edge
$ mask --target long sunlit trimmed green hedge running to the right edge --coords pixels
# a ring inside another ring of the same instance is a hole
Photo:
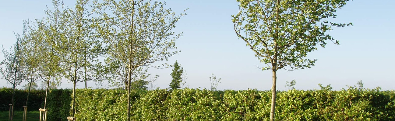
[[[126,91],[77,90],[80,121],[125,121]],[[132,91],[132,120],[267,121],[270,91]],[[278,121],[395,121],[395,92],[289,90],[277,95]],[[70,103],[69,103],[70,105]]]

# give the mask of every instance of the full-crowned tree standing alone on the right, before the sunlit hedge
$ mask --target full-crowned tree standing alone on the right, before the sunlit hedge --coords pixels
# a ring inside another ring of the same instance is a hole
[[[247,43],[261,62],[263,70],[272,70],[273,86],[270,120],[274,121],[276,72],[279,69],[310,68],[316,59],[305,59],[307,53],[325,47],[327,40],[339,44],[329,34],[331,26],[350,24],[329,22],[336,9],[348,0],[237,0],[239,13],[233,15],[235,33]],[[270,63],[270,64],[269,64]]]

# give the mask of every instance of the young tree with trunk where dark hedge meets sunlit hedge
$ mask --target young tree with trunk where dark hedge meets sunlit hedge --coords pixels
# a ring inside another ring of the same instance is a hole
[[[98,57],[102,55],[102,42],[94,31],[92,11],[88,10],[88,0],[77,0],[73,8],[65,9],[60,14],[62,22],[58,26],[59,41],[55,41],[56,50],[61,58],[62,75],[73,83],[71,117],[75,114],[76,83],[98,78],[102,66]],[[92,64],[95,62],[96,64]],[[101,72],[100,72],[101,73]],[[89,75],[88,75],[89,74]]]

